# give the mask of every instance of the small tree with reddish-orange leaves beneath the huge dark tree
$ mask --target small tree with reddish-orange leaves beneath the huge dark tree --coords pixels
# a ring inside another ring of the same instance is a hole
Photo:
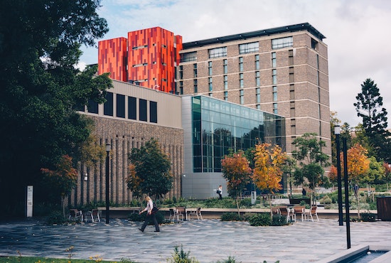
[[[60,193],[65,217],[64,199],[76,186],[77,171],[73,168],[72,158],[68,155],[63,156],[55,166],[54,171],[48,168],[41,168],[41,171],[45,175],[45,185],[48,186],[48,193]],[[53,191],[53,189],[55,190]]]

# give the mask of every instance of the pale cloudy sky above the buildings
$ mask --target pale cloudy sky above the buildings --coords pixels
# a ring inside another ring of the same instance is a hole
[[[357,126],[353,103],[361,84],[375,81],[391,127],[390,0],[102,0],[104,38],[160,26],[183,43],[279,26],[310,23],[326,36],[330,110]],[[97,40],[99,41],[99,40]],[[97,48],[82,48],[82,65],[97,63]]]

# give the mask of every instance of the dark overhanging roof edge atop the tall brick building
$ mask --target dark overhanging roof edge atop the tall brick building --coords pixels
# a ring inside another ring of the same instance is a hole
[[[269,28],[269,29],[264,29],[264,30],[259,30],[259,31],[239,33],[239,34],[230,35],[230,36],[221,36],[218,38],[209,38],[209,39],[204,39],[201,41],[193,41],[193,42],[183,43],[183,49],[195,48],[195,47],[200,47],[203,45],[225,43],[228,41],[237,41],[237,40],[242,40],[242,39],[247,39],[247,38],[256,38],[259,36],[269,36],[269,35],[274,35],[277,33],[297,32],[297,31],[303,31],[303,30],[309,31],[309,33],[316,36],[320,41],[323,41],[323,38],[326,38],[326,36],[323,36],[323,34],[321,32],[319,32],[318,30],[316,30],[316,28],[314,28],[314,26],[311,26],[310,23],[298,23],[296,25],[291,25],[291,26],[280,26],[278,28]]]

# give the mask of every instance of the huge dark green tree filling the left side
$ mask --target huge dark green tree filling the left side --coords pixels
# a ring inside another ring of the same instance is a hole
[[[100,0],[4,0],[0,9],[0,198],[16,210],[27,185],[45,199],[42,167],[55,169],[65,154],[77,161],[90,135],[75,109],[104,102],[107,75],[75,69],[81,45],[108,31]],[[59,193],[60,194],[60,193]],[[23,213],[23,207],[19,207]]]

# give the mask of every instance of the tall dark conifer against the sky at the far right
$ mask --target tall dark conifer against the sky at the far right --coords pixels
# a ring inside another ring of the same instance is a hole
[[[363,118],[365,134],[373,144],[377,159],[388,160],[391,149],[391,134],[387,131],[387,110],[382,107],[382,97],[379,88],[373,80],[366,79],[361,85],[361,92],[355,97],[358,102],[354,103],[357,116]]]

